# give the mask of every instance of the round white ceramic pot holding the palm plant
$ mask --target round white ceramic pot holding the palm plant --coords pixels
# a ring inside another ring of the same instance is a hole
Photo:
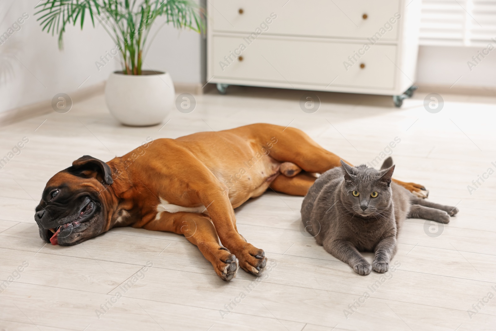
[[[168,72],[143,70],[141,75],[111,73],[105,86],[110,113],[122,124],[139,127],[162,123],[176,92]]]

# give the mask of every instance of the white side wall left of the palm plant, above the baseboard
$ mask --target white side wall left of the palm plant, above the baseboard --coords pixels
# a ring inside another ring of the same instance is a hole
[[[0,45],[0,61],[3,65],[8,63],[13,69],[13,73],[4,74],[0,82],[0,112],[51,100],[61,92],[70,95],[88,76],[81,87],[105,80],[114,69],[106,66],[98,71],[94,64],[112,48],[111,39],[101,27],[93,29],[90,22],[87,22],[84,32],[78,27],[70,27],[64,38],[64,50],[59,51],[58,38],[42,32],[36,21],[33,7],[37,2],[0,2],[3,15],[10,8],[0,22],[0,33],[7,31],[24,12],[29,15],[21,29]]]

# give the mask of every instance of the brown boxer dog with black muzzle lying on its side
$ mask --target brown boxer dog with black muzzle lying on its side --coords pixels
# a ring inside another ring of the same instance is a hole
[[[257,275],[265,253],[238,233],[234,208],[269,187],[305,196],[314,174],[339,160],[304,132],[270,124],[150,139],[109,162],[75,160],[48,181],[35,220],[43,240],[63,246],[121,226],[175,232],[222,279],[238,266]],[[427,196],[422,185],[396,182]]]

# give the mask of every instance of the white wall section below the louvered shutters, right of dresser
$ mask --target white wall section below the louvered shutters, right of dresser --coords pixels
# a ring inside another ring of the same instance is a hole
[[[496,87],[496,43],[495,49],[472,70],[467,65],[473,56],[484,47],[421,46],[417,66],[417,83],[445,85],[450,87]],[[487,53],[488,51],[486,51]],[[461,78],[460,78],[461,76]],[[458,81],[456,81],[460,78]]]

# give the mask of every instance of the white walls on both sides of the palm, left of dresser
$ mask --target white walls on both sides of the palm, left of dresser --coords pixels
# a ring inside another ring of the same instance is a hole
[[[13,70],[13,74],[2,74],[0,78],[0,112],[51,100],[61,92],[70,95],[88,76],[81,88],[102,82],[120,69],[117,58],[100,71],[97,69],[95,62],[115,45],[98,22],[93,28],[89,16],[83,31],[77,25],[67,27],[64,50],[59,51],[57,36],[42,32],[36,21],[34,5],[38,2],[0,0],[0,34],[24,12],[29,14],[21,29],[0,45],[0,71],[5,73],[1,68],[6,65]],[[161,25],[157,23],[155,29]],[[144,68],[169,71],[175,82],[201,83],[201,44],[199,34],[166,25],[157,34]]]

